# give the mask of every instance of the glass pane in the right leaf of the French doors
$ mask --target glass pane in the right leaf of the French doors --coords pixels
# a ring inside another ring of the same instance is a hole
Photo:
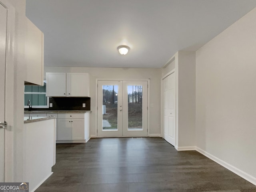
[[[142,130],[142,85],[128,85],[128,130]]]

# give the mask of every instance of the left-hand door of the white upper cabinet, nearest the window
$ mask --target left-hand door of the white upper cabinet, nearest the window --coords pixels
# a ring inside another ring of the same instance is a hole
[[[66,73],[46,73],[46,96],[66,97]]]

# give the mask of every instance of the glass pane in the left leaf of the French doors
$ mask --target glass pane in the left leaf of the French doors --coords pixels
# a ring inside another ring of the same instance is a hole
[[[118,85],[102,85],[102,130],[117,130]]]

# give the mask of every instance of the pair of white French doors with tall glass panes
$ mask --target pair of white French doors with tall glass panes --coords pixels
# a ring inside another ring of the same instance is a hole
[[[98,81],[98,137],[148,135],[148,81]]]

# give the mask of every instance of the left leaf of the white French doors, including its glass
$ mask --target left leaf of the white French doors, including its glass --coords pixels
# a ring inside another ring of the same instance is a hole
[[[98,137],[122,136],[122,81],[98,81]]]

